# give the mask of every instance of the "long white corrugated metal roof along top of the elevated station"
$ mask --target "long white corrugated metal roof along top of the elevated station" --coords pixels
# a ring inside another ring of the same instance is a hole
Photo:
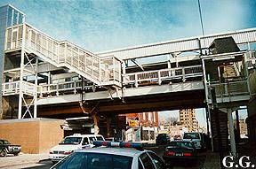
[[[146,45],[128,47],[120,50],[110,50],[98,53],[100,57],[115,56],[119,59],[143,58],[163,55],[167,53],[199,50],[199,41],[202,48],[208,48],[216,38],[232,36],[237,44],[256,42],[256,28],[244,29],[223,34],[197,36],[193,38],[178,39],[168,42],[156,42]]]

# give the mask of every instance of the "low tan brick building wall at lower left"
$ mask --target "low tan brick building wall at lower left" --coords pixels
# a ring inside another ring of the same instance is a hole
[[[6,119],[0,120],[0,139],[20,144],[24,153],[44,153],[63,138],[62,120]]]

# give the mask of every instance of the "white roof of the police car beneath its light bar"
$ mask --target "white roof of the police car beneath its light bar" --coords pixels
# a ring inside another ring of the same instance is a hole
[[[119,156],[126,156],[126,157],[138,157],[143,152],[148,150],[136,150],[132,148],[109,148],[109,147],[97,147],[92,149],[83,149],[83,150],[76,150],[75,152],[92,152],[92,153],[103,153],[103,154],[113,154]]]

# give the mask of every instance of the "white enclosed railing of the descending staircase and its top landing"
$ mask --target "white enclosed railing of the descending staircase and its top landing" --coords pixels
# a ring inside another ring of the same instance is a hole
[[[121,82],[121,62],[114,56],[100,58],[71,42],[56,41],[28,24],[25,27],[18,25],[7,28],[6,51],[21,48],[23,28],[26,29],[25,48],[39,54],[52,65],[66,66],[98,85],[101,82],[106,85],[113,84],[113,81]]]

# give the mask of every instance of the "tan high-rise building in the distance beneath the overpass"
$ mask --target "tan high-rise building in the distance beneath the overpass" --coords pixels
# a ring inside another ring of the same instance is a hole
[[[198,121],[196,120],[195,109],[180,110],[180,123],[183,127],[187,127],[189,132],[197,131]]]

